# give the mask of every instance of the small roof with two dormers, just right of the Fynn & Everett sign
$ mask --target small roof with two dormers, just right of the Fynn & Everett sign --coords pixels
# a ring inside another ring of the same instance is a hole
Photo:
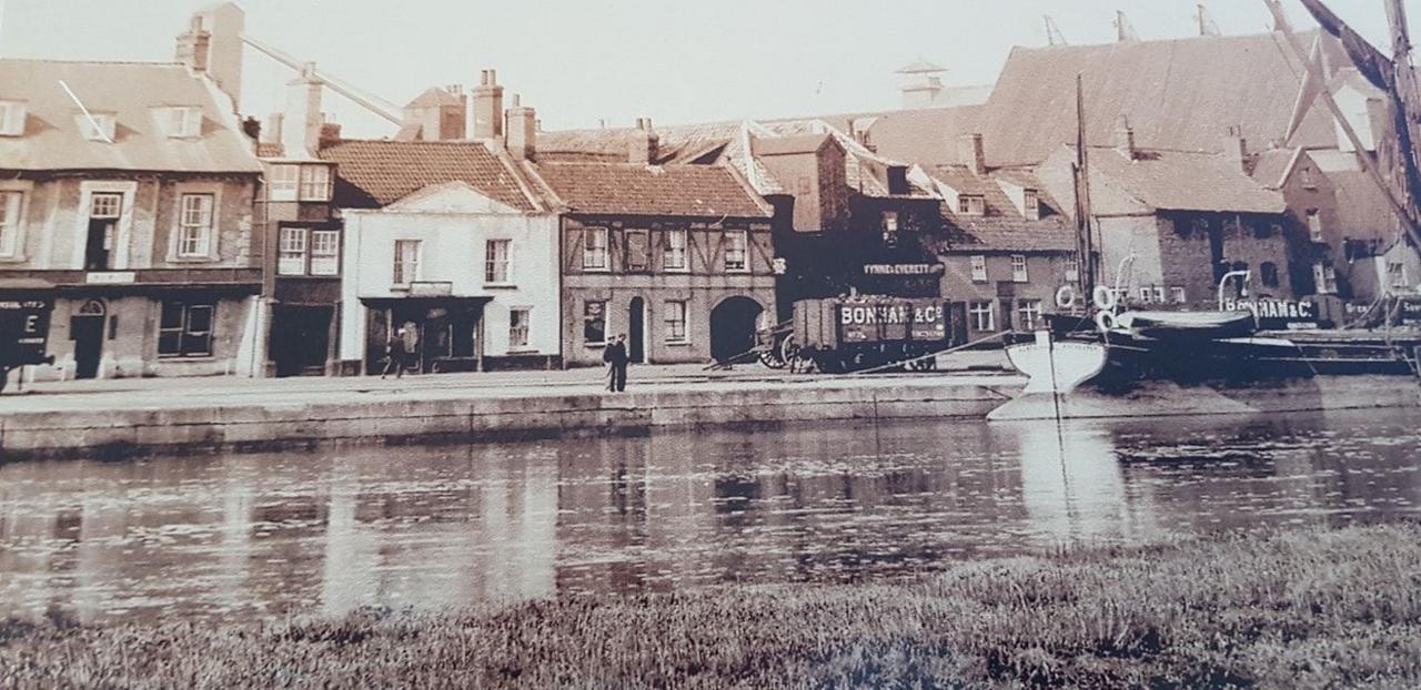
[[[942,203],[946,224],[945,246],[939,251],[1074,251],[1076,229],[1030,173],[1025,170],[995,170],[973,175],[963,166],[941,166],[929,172],[932,177],[959,193],[980,195],[986,200],[985,216],[958,214]],[[1042,216],[1029,220],[1017,210],[998,179],[1026,189],[1034,189],[1042,203]]]

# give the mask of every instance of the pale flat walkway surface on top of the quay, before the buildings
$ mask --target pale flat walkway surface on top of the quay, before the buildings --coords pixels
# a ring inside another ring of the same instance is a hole
[[[730,369],[710,369],[705,365],[635,365],[628,375],[628,389],[664,390],[698,386],[729,390],[830,382],[843,385],[853,380],[882,380],[894,376],[953,376],[963,379],[963,383],[973,383],[982,378],[996,378],[1009,371],[1000,351],[945,355],[939,358],[938,371],[929,373],[834,376],[791,373],[784,369],[769,369],[759,363],[736,365]],[[605,371],[601,368],[431,373],[406,375],[399,379],[381,379],[379,376],[98,379],[27,383],[23,389],[11,380],[11,385],[0,393],[0,415],[202,407],[209,405],[340,403],[342,400],[368,400],[369,396],[506,399],[564,393],[585,395],[603,390],[605,385]]]

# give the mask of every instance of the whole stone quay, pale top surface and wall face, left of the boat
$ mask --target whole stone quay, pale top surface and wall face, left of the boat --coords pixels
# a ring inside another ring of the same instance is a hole
[[[831,419],[985,417],[1025,382],[1000,354],[935,373],[824,376],[703,366],[635,366],[627,393],[600,369],[402,379],[114,379],[50,382],[0,395],[0,457],[242,451],[317,443],[497,442],[644,433],[665,426]]]

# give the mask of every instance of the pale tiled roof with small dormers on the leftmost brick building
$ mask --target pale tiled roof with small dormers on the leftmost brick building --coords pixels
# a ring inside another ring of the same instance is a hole
[[[80,106],[111,112],[114,143],[91,142],[80,129]],[[180,64],[0,60],[0,99],[24,101],[21,136],[0,136],[0,169],[153,170],[257,173],[260,163],[230,102]],[[202,108],[192,139],[163,132],[153,108]]]

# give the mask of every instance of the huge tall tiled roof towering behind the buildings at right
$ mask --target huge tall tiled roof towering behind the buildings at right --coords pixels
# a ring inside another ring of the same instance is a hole
[[[1262,34],[1015,48],[982,112],[988,162],[1032,165],[1074,142],[1077,74],[1093,145],[1114,143],[1121,115],[1141,148],[1218,152],[1233,126],[1258,146],[1282,141],[1306,74],[1282,41]],[[1292,139],[1333,143],[1331,121],[1317,108]]]

